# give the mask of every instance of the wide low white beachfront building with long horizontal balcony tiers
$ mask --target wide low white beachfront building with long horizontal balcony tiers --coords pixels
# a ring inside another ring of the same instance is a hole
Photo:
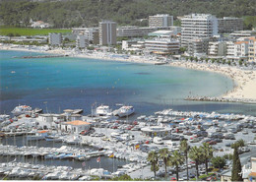
[[[156,54],[177,54],[179,41],[170,38],[155,38],[145,40],[145,48]]]

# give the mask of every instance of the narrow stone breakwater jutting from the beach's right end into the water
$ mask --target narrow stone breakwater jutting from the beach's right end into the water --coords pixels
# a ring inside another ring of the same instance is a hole
[[[218,101],[218,102],[241,102],[256,104],[256,99],[249,98],[224,98],[224,97],[210,97],[210,96],[188,96],[185,100],[190,101]]]

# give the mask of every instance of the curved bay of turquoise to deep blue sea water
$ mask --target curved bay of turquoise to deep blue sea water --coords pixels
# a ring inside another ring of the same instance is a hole
[[[216,96],[233,87],[232,81],[220,74],[169,66],[70,57],[21,59],[38,53],[0,53],[1,113],[10,112],[19,103],[47,106],[51,112],[84,108],[86,113],[95,102],[112,107],[115,103],[132,104],[141,114],[169,106],[200,108],[200,102],[188,102],[183,98],[188,95]],[[218,105],[210,107],[220,108]]]

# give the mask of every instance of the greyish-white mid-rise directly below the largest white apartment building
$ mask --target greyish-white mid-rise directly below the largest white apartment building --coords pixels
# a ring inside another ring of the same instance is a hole
[[[188,41],[187,54],[190,56],[206,55],[208,53],[209,38],[194,38]]]

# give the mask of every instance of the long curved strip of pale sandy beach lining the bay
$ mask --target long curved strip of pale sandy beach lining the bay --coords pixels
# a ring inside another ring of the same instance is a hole
[[[149,60],[144,56],[130,55],[128,58],[124,57],[112,57],[113,54],[106,53],[90,53],[90,54],[78,54],[72,50],[53,49],[28,49],[23,47],[11,47],[10,45],[1,45],[0,50],[14,50],[14,51],[28,51],[39,52],[59,55],[69,55],[69,57],[100,59],[105,61],[120,61],[129,63],[141,63],[141,64],[155,64],[157,60]],[[225,92],[217,97],[225,99],[254,99],[256,100],[256,71],[255,70],[241,70],[236,67],[210,65],[205,63],[191,63],[185,61],[175,61],[165,64],[166,66],[192,69],[198,71],[206,71],[212,73],[222,74],[232,80],[234,87],[232,90]],[[204,95],[202,95],[204,96]]]

